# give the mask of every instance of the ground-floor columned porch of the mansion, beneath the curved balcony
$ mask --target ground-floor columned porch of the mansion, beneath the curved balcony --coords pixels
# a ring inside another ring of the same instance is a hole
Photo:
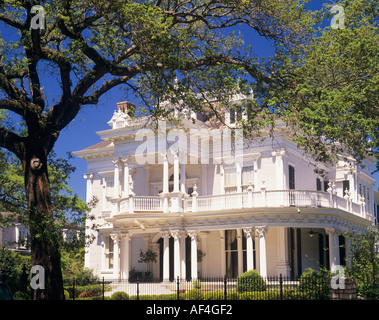
[[[253,269],[263,277],[282,274],[294,279],[308,267],[343,265],[349,247],[334,228],[245,227],[132,236],[118,232],[104,235],[104,241],[101,276],[129,280],[131,271],[138,270],[163,282],[178,277],[236,278]],[[155,263],[138,262],[146,250],[155,254]]]

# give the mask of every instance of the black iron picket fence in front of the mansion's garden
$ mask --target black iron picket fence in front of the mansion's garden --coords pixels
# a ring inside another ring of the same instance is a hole
[[[327,300],[326,278],[202,278],[172,282],[102,279],[95,285],[66,288],[72,299],[96,300]]]

